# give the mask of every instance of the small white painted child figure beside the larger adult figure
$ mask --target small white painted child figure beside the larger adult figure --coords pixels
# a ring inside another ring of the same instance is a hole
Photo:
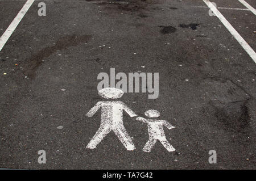
[[[159,117],[160,112],[156,110],[148,110],[144,113],[147,117]],[[148,137],[146,145],[143,148],[143,151],[150,152],[152,147],[155,145],[156,141],[159,140],[164,148],[168,151],[175,151],[175,148],[166,140],[166,135],[164,134],[163,126],[166,126],[168,129],[175,128],[166,120],[158,119],[144,119],[143,117],[137,117],[138,121],[147,123],[148,126]]]

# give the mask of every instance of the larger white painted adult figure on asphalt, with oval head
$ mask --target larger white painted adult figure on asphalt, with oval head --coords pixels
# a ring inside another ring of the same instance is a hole
[[[101,89],[98,93],[106,99],[117,99],[121,98],[123,91],[115,89],[113,87],[108,87]],[[126,132],[123,126],[123,110],[125,110],[130,117],[137,116],[129,107],[125,105],[121,100],[117,101],[100,101],[98,102],[87,114],[86,116],[92,117],[98,109],[101,108],[101,125],[96,134],[90,140],[89,144],[86,146],[88,149],[94,149],[101,142],[101,140],[113,131],[115,135],[119,138],[122,144],[127,150],[134,150],[135,146],[131,140],[129,134]]]

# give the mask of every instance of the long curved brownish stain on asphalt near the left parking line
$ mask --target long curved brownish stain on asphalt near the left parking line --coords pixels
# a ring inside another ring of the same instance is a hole
[[[89,39],[89,35],[72,35],[61,37],[59,40],[56,41],[55,45],[51,47],[46,47],[40,50],[38,53],[33,54],[31,58],[27,61],[28,64],[24,66],[24,74],[26,74],[30,78],[34,78],[35,71],[40,65],[42,65],[42,60],[44,58],[51,56],[51,54],[55,53],[57,50],[63,50],[71,46],[75,47],[80,43],[84,42],[86,43],[89,41]]]

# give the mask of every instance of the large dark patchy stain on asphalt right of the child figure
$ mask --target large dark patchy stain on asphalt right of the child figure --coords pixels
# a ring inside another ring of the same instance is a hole
[[[207,114],[212,114],[218,128],[230,133],[244,134],[250,129],[250,96],[230,79],[210,77],[200,83],[202,98],[209,100]]]

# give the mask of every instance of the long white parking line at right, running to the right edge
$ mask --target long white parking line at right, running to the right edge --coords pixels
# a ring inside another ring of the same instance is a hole
[[[212,10],[212,12],[220,19],[222,24],[228,29],[228,31],[234,36],[234,38],[240,43],[240,45],[245,49],[245,51],[249,54],[249,56],[253,59],[253,61],[256,63],[256,53],[254,50],[250,47],[249,44],[243,39],[243,37],[233,28],[233,26],[226,20],[226,18],[220,13],[220,11],[217,10],[217,8],[209,1],[209,0],[203,0],[205,4]],[[214,16],[213,16],[214,17]]]

